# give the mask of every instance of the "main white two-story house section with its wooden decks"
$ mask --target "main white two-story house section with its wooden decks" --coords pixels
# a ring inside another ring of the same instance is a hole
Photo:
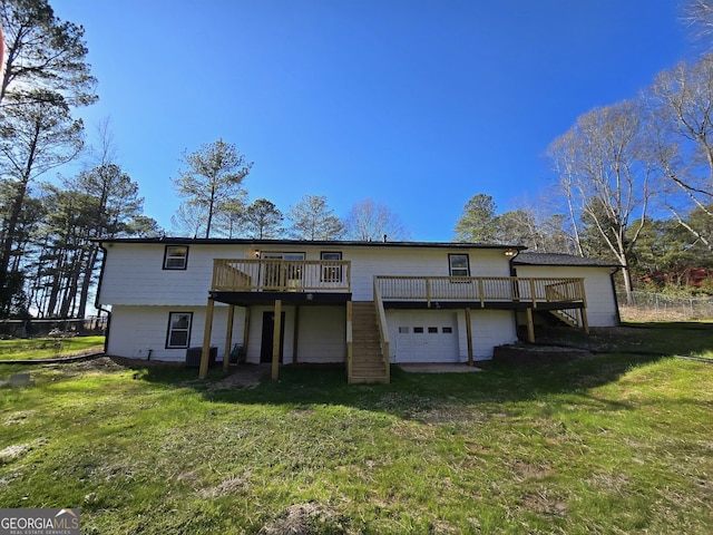
[[[198,351],[201,377],[212,352],[227,368],[237,347],[246,362],[271,363],[273,377],[280,363],[343,362],[350,382],[388,382],[393,362],[490,359],[517,340],[518,318],[534,339],[540,310],[567,311],[587,329],[577,266],[555,274],[516,264],[519,246],[177,237],[100,245],[107,352],[184,361]]]

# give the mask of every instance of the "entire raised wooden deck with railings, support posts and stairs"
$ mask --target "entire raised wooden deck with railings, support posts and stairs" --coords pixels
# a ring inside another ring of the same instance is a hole
[[[573,327],[587,328],[584,279],[518,276],[375,275],[373,301],[352,313],[352,272],[349,261],[218,259],[206,314],[201,377],[207,373],[214,301],[236,304],[272,302],[275,318],[284,302],[316,304],[319,296],[333,304],[346,303],[346,367],[350,382],[389,382],[389,330],[385,308],[465,309],[470,338],[470,310],[522,309],[527,312],[528,339],[534,340],[533,312],[555,311]],[[303,299],[302,299],[303,298]],[[339,299],[336,299],[339,298]],[[360,300],[363,301],[363,300]],[[232,311],[232,307],[231,307]],[[369,322],[367,322],[369,312]],[[232,313],[227,332],[232,331]],[[367,324],[368,323],[368,324]],[[275,343],[280,325],[275,321]],[[365,341],[364,341],[365,340]],[[368,343],[367,343],[368,342]],[[226,341],[231,347],[231,340]],[[380,356],[377,353],[381,353]],[[469,347],[469,363],[472,351]],[[273,350],[273,378],[277,378],[279,352]]]

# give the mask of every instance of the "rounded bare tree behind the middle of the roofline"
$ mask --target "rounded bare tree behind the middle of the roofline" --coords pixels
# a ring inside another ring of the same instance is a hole
[[[346,237],[371,242],[381,240],[404,241],[409,233],[397,214],[371,198],[355,203],[344,221]]]

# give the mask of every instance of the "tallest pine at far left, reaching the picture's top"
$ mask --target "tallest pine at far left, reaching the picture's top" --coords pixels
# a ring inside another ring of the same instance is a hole
[[[31,182],[74,158],[82,124],[70,108],[96,100],[84,29],[55,17],[47,0],[0,0],[6,55],[0,84],[0,172],[10,193],[0,244],[0,315],[22,274],[11,257]]]

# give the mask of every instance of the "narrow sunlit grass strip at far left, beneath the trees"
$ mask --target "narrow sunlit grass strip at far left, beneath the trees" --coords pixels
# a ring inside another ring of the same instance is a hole
[[[0,360],[55,359],[95,349],[104,351],[104,337],[16,338],[0,340]]]

